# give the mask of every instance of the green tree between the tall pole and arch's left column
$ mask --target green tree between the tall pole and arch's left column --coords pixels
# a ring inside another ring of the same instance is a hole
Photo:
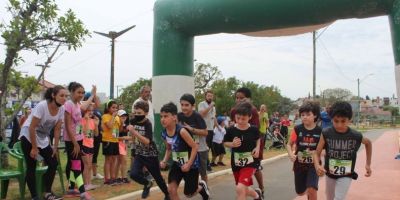
[[[145,85],[151,87],[151,79],[139,78],[135,83],[123,89],[122,94],[118,98],[118,103],[122,103],[125,110],[130,111],[133,102],[140,96],[140,88]]]

